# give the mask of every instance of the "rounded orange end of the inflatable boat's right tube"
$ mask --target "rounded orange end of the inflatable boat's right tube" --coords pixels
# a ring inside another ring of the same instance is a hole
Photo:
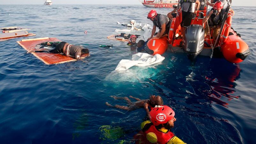
[[[228,36],[227,40],[221,45],[221,52],[224,58],[232,63],[239,63],[251,53],[248,45],[231,31],[233,35]]]

